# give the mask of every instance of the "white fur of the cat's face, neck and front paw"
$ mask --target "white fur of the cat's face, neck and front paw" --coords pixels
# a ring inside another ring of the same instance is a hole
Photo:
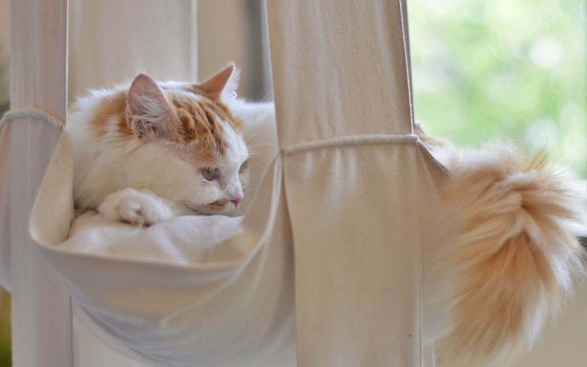
[[[235,212],[237,206],[231,201],[217,211],[203,209],[203,206],[223,199],[242,199],[242,185],[247,184],[248,173],[245,171],[239,174],[238,171],[249,153],[240,134],[228,123],[221,122],[228,147],[218,165],[217,179],[208,181],[200,172],[202,167],[181,159],[174,149],[175,143],[165,140],[146,143],[138,137],[120,139],[114,117],[106,122],[106,134],[103,137],[93,135],[89,121],[100,100],[112,93],[114,91],[110,90],[90,93],[76,103],[68,116],[75,156],[73,196],[77,207],[100,207],[106,217],[137,224],[151,224],[154,219],[166,219],[170,217],[169,213],[175,216],[194,211],[225,215]],[[151,192],[126,190],[129,187]],[[109,196],[118,191],[121,192]],[[151,200],[153,196],[160,198]],[[104,203],[105,200],[107,203]],[[121,202],[124,200],[127,203]],[[183,210],[160,208],[169,206],[169,203],[180,204]],[[139,207],[140,210],[137,209]],[[137,211],[145,216],[137,218]]]

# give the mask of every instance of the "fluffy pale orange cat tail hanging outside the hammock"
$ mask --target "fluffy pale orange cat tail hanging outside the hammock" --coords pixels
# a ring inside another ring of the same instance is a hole
[[[444,270],[451,329],[436,343],[438,366],[488,366],[529,348],[571,294],[583,252],[566,224],[581,211],[545,154],[492,143],[448,162],[450,213]]]

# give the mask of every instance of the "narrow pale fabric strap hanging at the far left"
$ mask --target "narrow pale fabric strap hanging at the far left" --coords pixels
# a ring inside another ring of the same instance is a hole
[[[35,106],[65,121],[68,0],[13,0],[10,12],[11,108]],[[11,235],[8,244],[0,244],[11,251],[12,362],[72,367],[69,295],[28,233],[33,200],[62,130],[53,126],[55,120],[45,123],[43,113],[16,116],[2,123],[9,131],[9,142],[2,144],[9,143],[11,151],[9,203],[1,205],[9,208]]]

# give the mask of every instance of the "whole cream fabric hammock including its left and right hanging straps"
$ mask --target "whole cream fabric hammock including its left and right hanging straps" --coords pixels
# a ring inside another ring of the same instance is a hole
[[[67,1],[12,5],[0,271],[15,366],[73,366],[72,314],[163,366],[422,364],[442,170],[413,134],[403,1],[268,2],[278,154],[241,223],[172,220],[235,231],[190,264],[61,245],[73,218]]]

